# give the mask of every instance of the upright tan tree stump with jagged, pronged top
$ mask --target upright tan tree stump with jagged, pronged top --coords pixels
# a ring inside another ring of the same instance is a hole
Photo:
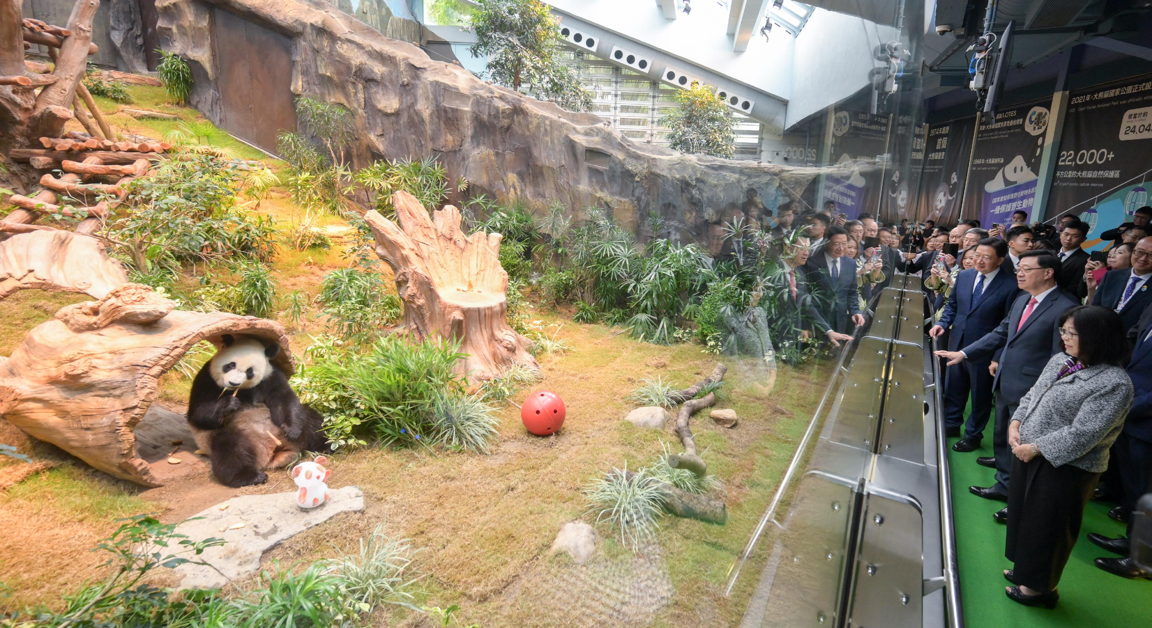
[[[460,212],[446,205],[430,217],[408,192],[393,194],[399,225],[377,212],[364,220],[372,228],[376,252],[396,275],[408,331],[460,343],[467,357],[457,369],[490,378],[513,363],[539,367],[528,352],[531,342],[508,327],[508,274],[500,266],[500,233],[464,236]]]

